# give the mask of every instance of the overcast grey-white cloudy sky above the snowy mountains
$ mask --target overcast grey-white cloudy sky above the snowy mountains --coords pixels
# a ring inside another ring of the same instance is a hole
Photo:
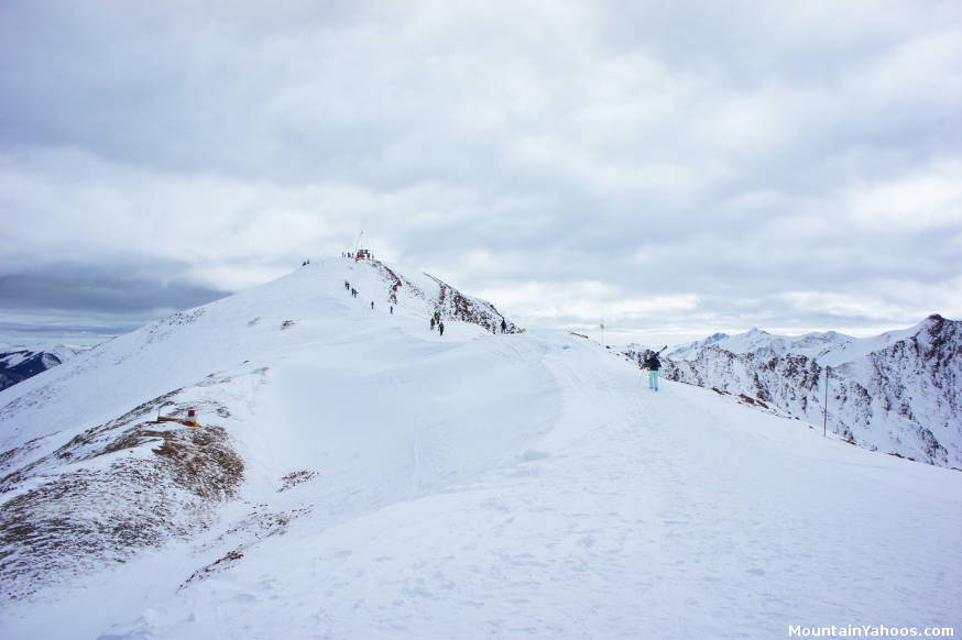
[[[359,230],[621,342],[958,319],[962,2],[4,0],[0,217],[0,341]]]

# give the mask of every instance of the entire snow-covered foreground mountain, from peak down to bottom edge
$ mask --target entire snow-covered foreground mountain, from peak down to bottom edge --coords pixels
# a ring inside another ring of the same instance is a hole
[[[0,393],[0,636],[958,619],[962,474],[687,385],[648,393],[591,341],[499,324],[430,277],[336,260]],[[200,428],[149,423],[188,408]]]

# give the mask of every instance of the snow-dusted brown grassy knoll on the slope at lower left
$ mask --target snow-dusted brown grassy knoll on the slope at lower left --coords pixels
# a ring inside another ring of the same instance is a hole
[[[176,393],[88,429],[0,481],[7,490],[45,481],[2,505],[0,596],[21,598],[188,536],[209,526],[217,503],[236,496],[244,465],[222,427],[123,423]]]

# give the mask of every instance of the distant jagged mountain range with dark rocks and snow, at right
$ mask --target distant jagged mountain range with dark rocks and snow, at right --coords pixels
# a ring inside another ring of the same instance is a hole
[[[713,336],[715,338],[715,336]],[[676,349],[669,379],[746,397],[886,453],[962,468],[962,322],[930,316],[855,339],[747,333]]]

